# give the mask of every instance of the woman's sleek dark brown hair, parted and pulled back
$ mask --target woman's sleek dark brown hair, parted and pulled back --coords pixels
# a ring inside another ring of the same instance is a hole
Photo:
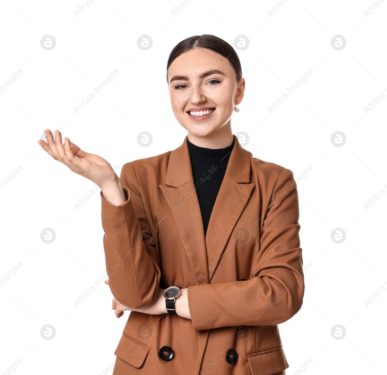
[[[180,56],[182,53],[189,51],[194,48],[208,48],[212,51],[219,53],[228,59],[229,63],[235,70],[236,80],[240,81],[242,78],[242,67],[238,55],[235,49],[217,36],[211,34],[195,35],[187,39],[182,40],[176,44],[175,48],[170,53],[167,63],[167,82],[168,82],[168,69],[173,61]]]

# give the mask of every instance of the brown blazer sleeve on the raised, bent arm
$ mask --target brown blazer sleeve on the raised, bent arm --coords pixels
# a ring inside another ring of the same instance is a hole
[[[132,163],[123,165],[120,180],[127,198],[123,204],[111,204],[100,192],[106,271],[114,297],[139,309],[156,297],[161,272]]]

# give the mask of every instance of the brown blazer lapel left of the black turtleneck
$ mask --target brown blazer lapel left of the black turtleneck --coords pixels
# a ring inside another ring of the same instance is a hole
[[[175,219],[195,278],[204,275],[200,284],[208,284],[207,251],[204,227],[194,186],[190,154],[185,137],[183,144],[171,151],[165,185],[159,185]]]

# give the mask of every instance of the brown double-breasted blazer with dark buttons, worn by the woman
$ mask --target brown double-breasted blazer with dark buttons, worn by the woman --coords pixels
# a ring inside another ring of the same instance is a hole
[[[304,294],[293,173],[253,158],[234,135],[204,237],[187,138],[122,167],[125,203],[101,193],[112,294],[140,308],[163,283],[188,288],[192,317],[131,312],[113,374],[284,374],[277,324],[300,310]],[[170,361],[161,360],[162,346],[173,350]]]

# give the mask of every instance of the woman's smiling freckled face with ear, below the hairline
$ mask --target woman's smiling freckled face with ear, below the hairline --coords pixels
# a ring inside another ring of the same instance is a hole
[[[229,123],[245,80],[222,55],[195,48],[178,56],[168,69],[171,105],[178,122],[195,136],[207,136]],[[208,113],[208,114],[207,114]]]

